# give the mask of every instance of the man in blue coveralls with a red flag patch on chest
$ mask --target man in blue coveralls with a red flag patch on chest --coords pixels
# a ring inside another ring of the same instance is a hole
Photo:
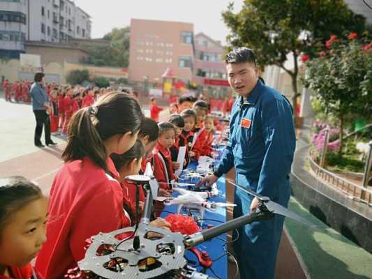
[[[239,98],[232,107],[230,138],[213,175],[201,184],[211,185],[232,167],[236,182],[272,201],[288,206],[290,168],[295,152],[292,107],[278,91],[263,84],[252,50],[239,47],[226,57],[228,81]],[[235,188],[234,218],[258,207],[258,199]],[[274,279],[276,255],[284,218],[275,215],[239,229],[234,243],[241,278]],[[236,237],[236,235],[235,235]]]

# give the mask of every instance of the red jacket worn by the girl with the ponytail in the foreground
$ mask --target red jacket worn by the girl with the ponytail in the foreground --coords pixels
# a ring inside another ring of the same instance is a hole
[[[106,174],[89,158],[65,163],[50,190],[47,241],[36,268],[47,279],[64,278],[84,258],[85,240],[99,232],[128,227],[119,174],[110,158]]]

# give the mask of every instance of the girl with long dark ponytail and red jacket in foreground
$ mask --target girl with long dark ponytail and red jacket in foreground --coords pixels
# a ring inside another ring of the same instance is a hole
[[[131,149],[142,119],[140,105],[119,92],[105,94],[94,107],[85,107],[70,119],[62,154],[65,163],[50,190],[52,221],[36,259],[45,278],[64,278],[84,258],[84,243],[91,236],[131,225],[110,155]],[[155,225],[169,224],[156,220]]]

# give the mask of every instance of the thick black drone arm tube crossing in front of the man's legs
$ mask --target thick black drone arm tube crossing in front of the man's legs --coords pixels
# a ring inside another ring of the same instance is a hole
[[[206,229],[203,232],[197,232],[195,234],[191,234],[191,236],[188,236],[188,238],[184,241],[184,243],[185,243],[186,248],[191,248],[204,241],[213,239],[215,236],[224,234],[225,232],[229,232],[232,229],[243,227],[246,224],[250,224],[258,220],[267,220],[269,218],[272,218],[272,216],[273,215],[269,211],[260,211],[258,213],[247,214],[239,218],[230,220],[227,223],[224,223],[222,225],[212,227],[211,229]]]

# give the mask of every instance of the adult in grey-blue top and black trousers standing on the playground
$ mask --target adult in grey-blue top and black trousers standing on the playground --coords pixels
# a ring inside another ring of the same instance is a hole
[[[52,110],[50,100],[47,96],[47,91],[43,85],[45,80],[44,73],[36,73],[34,77],[34,84],[31,86],[30,95],[32,98],[32,110],[35,114],[36,128],[34,136],[34,144],[38,147],[44,147],[41,143],[41,134],[45,135],[45,144],[55,145],[56,143],[50,138],[50,119],[49,114]]]

